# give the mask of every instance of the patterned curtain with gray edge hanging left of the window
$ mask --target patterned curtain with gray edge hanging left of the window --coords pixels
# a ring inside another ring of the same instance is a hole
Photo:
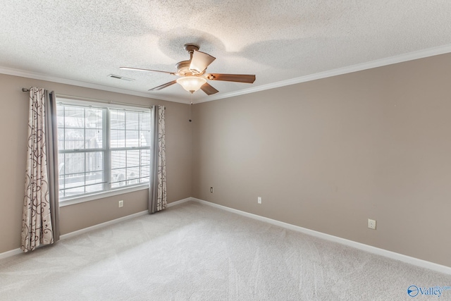
[[[20,247],[23,252],[59,240],[56,145],[54,93],[32,87]]]

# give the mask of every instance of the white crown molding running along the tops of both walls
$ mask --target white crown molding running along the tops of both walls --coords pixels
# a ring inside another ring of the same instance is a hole
[[[352,73],[352,72],[357,72],[357,71],[362,71],[362,70],[367,70],[367,69],[377,68],[377,67],[382,67],[382,66],[388,66],[388,65],[392,65],[394,63],[402,63],[404,61],[423,59],[428,56],[436,56],[439,54],[447,54],[450,52],[451,52],[451,44],[447,44],[447,45],[443,45],[443,46],[439,46],[439,47],[433,47],[433,48],[429,48],[429,49],[423,49],[423,50],[419,50],[419,51],[412,51],[407,54],[400,54],[400,55],[391,56],[391,57],[385,58],[385,59],[378,59],[376,61],[359,63],[356,65],[342,67],[342,68],[336,68],[333,70],[328,70],[328,71],[324,71],[324,72],[320,72],[320,73],[314,73],[311,75],[304,75],[299,78],[292,78],[290,80],[281,80],[279,82],[272,82],[267,85],[250,87],[248,89],[243,89],[243,90],[239,90],[239,91],[235,91],[235,92],[214,94],[212,96],[198,99],[194,104],[199,104],[202,102],[211,102],[214,100],[224,99],[224,98],[229,98],[229,97],[236,97],[236,96],[245,95],[245,94],[249,94],[249,93],[270,90],[270,89],[274,89],[274,88],[278,88],[278,87],[285,87],[288,85],[295,85],[295,84],[299,84],[301,82],[309,82],[311,80],[319,80],[321,78],[330,78],[331,76],[342,75],[342,74],[346,74],[346,73]],[[164,96],[159,96],[159,95],[155,95],[155,94],[149,95],[149,94],[146,94],[143,92],[126,90],[126,89],[121,89],[121,88],[116,88],[116,87],[109,87],[109,86],[105,86],[105,85],[98,85],[98,84],[93,84],[90,82],[82,82],[79,80],[69,80],[67,78],[58,78],[55,76],[44,75],[41,73],[34,73],[34,72],[30,72],[30,71],[6,68],[6,67],[1,67],[1,66],[0,66],[0,73],[8,74],[8,75],[16,75],[16,76],[20,76],[23,78],[33,78],[35,80],[47,80],[49,82],[58,82],[61,84],[66,84],[66,85],[75,85],[75,86],[79,86],[79,87],[87,87],[87,88],[92,88],[92,89],[97,89],[97,90],[129,94],[129,95],[134,95],[134,96],[146,97],[149,99],[165,100],[167,102],[178,102],[181,104],[187,104],[186,99],[177,99],[175,97],[164,97]]]

